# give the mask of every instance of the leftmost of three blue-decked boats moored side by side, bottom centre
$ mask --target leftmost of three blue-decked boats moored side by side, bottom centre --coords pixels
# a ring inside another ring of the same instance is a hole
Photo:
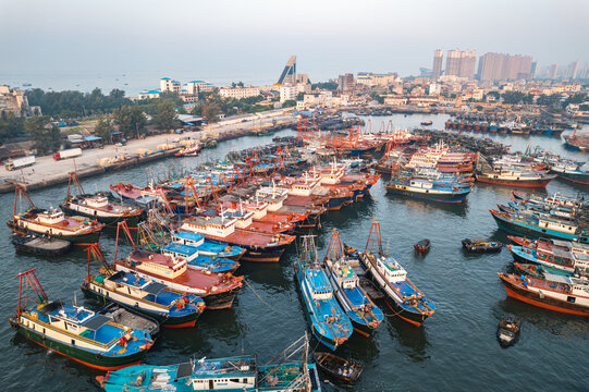
[[[317,340],[335,351],[354,330],[349,318],[338,304],[326,271],[317,260],[312,236],[303,236],[303,248],[295,264],[295,275],[300,289],[305,314]]]

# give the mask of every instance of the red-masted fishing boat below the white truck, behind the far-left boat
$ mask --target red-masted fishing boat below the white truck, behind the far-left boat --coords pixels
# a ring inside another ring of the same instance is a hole
[[[70,192],[72,185],[77,188],[76,195]],[[144,215],[140,208],[110,203],[108,195],[103,193],[85,193],[75,172],[70,173],[68,194],[60,208],[66,213],[96,219],[111,228],[122,221],[130,228],[136,228]]]

